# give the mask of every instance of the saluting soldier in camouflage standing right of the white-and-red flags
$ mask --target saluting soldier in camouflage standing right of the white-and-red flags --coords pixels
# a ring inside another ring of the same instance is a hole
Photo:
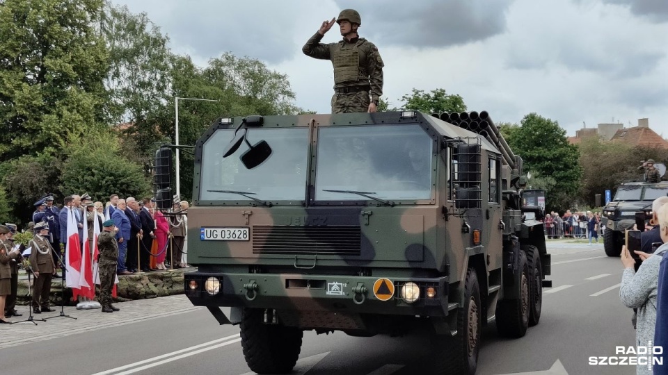
[[[97,250],[100,251],[97,262],[100,272],[100,305],[102,305],[102,313],[113,313],[120,310],[111,304],[111,288],[116,279],[118,263],[118,243],[116,242],[118,228],[114,226],[111,219],[102,223],[102,227],[102,233],[97,238]]]

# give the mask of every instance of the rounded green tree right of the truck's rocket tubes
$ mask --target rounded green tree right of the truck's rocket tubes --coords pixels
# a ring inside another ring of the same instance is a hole
[[[546,209],[571,208],[578,196],[582,178],[580,152],[568,142],[559,123],[536,113],[526,115],[518,128],[508,126],[507,142],[524,160],[524,170],[556,181],[546,192]],[[505,138],[505,137],[504,137]]]

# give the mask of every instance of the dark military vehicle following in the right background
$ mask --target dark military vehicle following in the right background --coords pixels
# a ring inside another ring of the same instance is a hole
[[[644,213],[645,224],[652,218],[652,203],[668,193],[668,182],[622,183],[612,201],[603,208],[603,249],[607,256],[619,256],[626,230],[633,229],[635,214]]]

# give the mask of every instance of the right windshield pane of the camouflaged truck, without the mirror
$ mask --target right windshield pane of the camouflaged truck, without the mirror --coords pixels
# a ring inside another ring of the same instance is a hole
[[[321,127],[315,200],[431,199],[432,147],[417,124]]]

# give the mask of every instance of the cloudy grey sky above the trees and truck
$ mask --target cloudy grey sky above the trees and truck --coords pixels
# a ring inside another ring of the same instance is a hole
[[[568,135],[598,123],[668,137],[667,0],[113,0],[146,12],[198,65],[231,51],[287,74],[296,105],[330,112],[331,63],[301,47],[343,8],[385,62],[390,106],[413,88],[460,94],[495,122],[539,113]],[[337,28],[323,42],[340,40]]]

